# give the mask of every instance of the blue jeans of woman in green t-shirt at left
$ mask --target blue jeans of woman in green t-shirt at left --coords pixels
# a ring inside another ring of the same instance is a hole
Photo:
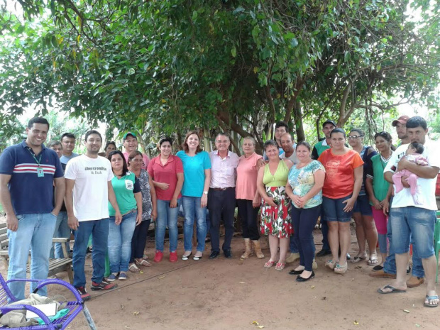
[[[121,224],[114,223],[114,216],[109,218],[109,263],[110,272],[128,272],[131,257],[131,238],[136,227],[138,211],[132,210],[122,216]],[[94,247],[93,247],[94,248]]]

